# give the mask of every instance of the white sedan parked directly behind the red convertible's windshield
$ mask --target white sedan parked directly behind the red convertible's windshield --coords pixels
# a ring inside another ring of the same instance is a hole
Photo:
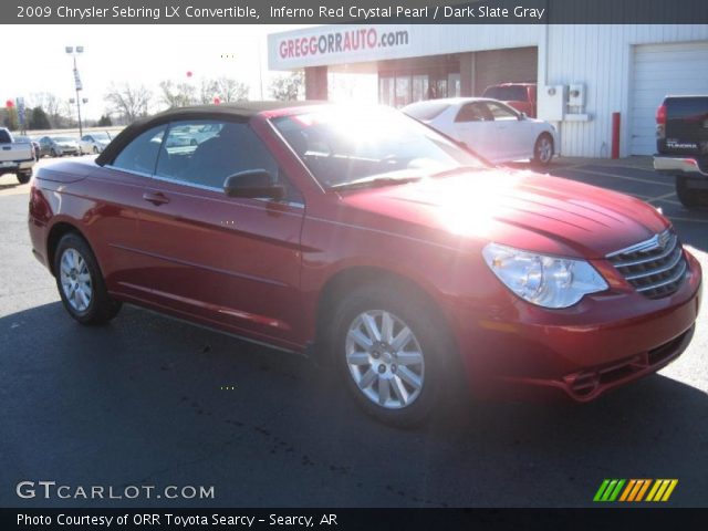
[[[403,112],[500,164],[531,159],[546,166],[555,153],[555,128],[497,100],[452,97],[413,103]]]

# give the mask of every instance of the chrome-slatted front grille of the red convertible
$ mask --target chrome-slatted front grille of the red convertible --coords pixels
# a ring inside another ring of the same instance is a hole
[[[607,260],[627,282],[649,299],[660,299],[676,292],[687,269],[681,244],[670,229],[607,254]]]

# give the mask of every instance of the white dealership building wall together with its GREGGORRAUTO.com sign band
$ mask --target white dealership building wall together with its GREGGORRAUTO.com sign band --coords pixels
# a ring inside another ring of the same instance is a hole
[[[708,1],[708,0],[707,0]],[[326,34],[329,31],[368,28],[325,25],[269,35],[271,70],[342,65],[377,60],[440,55],[503,48],[538,46],[539,85],[584,83],[584,112],[589,122],[558,125],[564,156],[608,157],[612,145],[612,113],[622,114],[621,156],[631,144],[634,46],[637,44],[708,41],[708,24],[377,24],[378,32],[406,29],[407,46],[364,50],[317,56],[279,58],[283,39]],[[542,90],[542,86],[540,86]],[[706,87],[708,91],[708,87]],[[658,106],[659,102],[657,102]],[[543,117],[542,115],[540,117]]]

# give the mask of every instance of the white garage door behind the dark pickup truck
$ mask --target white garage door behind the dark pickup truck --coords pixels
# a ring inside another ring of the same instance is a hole
[[[656,152],[656,107],[667,94],[708,94],[708,42],[634,50],[631,154]]]

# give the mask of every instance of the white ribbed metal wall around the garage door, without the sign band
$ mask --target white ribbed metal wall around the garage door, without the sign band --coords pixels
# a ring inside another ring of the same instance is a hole
[[[584,83],[590,122],[560,124],[560,153],[608,157],[612,113],[622,114],[620,155],[631,143],[634,46],[637,44],[708,41],[706,24],[549,25],[548,45],[539,43],[539,84]],[[541,55],[545,59],[541,60]],[[708,91],[708,86],[706,87]],[[658,106],[660,102],[656,102]]]

